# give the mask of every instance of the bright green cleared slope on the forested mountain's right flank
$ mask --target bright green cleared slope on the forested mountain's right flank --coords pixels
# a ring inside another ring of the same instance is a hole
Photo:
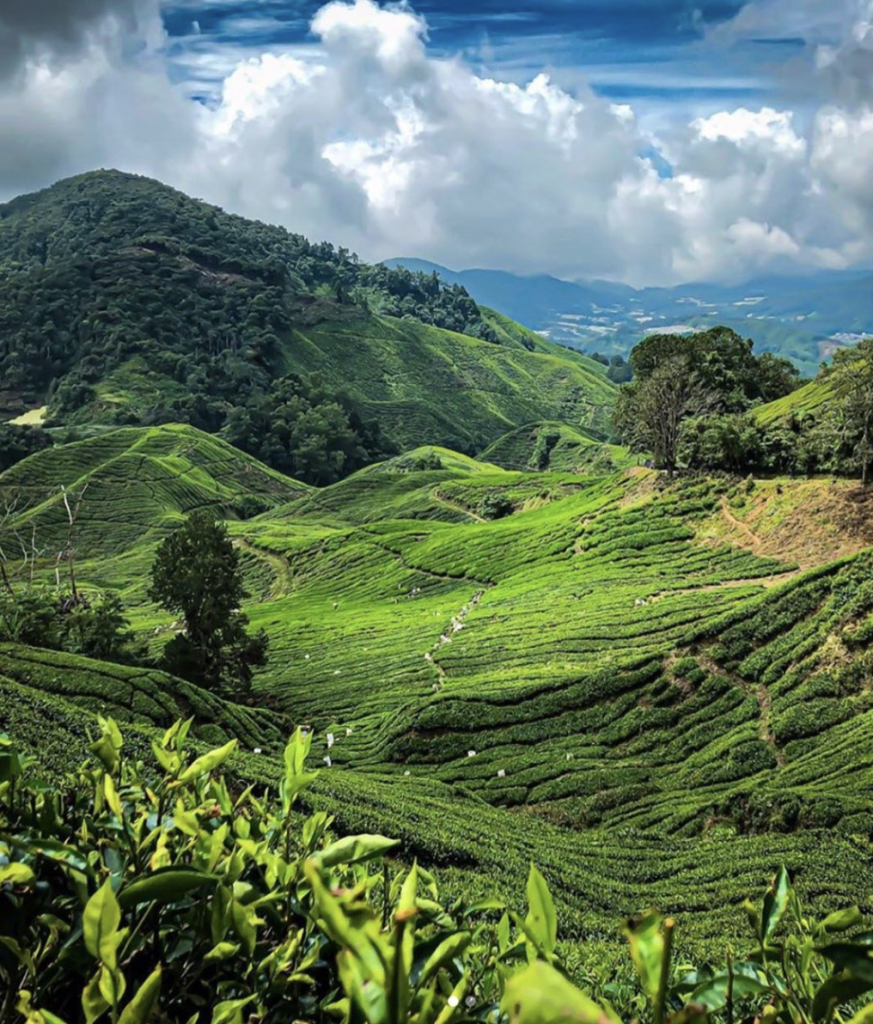
[[[318,373],[403,445],[480,449],[535,419],[605,429],[615,387],[588,360],[529,352],[390,317],[294,331],[288,368]]]

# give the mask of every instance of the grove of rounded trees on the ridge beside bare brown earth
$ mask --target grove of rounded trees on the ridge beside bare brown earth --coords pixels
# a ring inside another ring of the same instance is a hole
[[[621,388],[615,412],[620,436],[673,473],[684,437],[691,431],[693,440],[694,429],[705,433],[713,417],[743,434],[751,423],[749,410],[790,394],[800,383],[787,359],[755,355],[752,348],[728,328],[690,337],[650,335],[630,353],[634,380]]]

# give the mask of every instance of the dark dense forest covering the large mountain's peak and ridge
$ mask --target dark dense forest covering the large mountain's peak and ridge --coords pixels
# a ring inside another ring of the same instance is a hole
[[[280,339],[317,297],[496,340],[463,288],[362,264],[146,178],[73,178],[0,206],[0,379],[49,391],[57,421],[138,356],[185,396],[162,396],[152,416],[219,429],[224,403],[283,371]]]

